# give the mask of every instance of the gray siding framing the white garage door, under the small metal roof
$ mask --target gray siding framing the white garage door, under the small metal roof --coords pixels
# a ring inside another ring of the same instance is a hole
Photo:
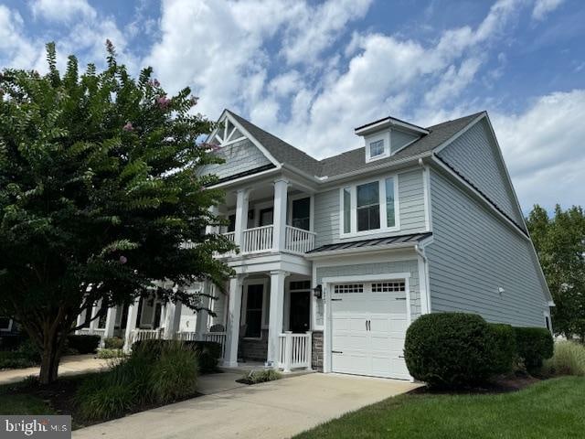
[[[368,274],[410,273],[410,316],[412,320],[420,316],[419,265],[416,260],[396,262],[356,263],[333,267],[317,267],[316,284],[324,277],[358,276]],[[320,301],[319,301],[320,302]],[[323,323],[323,308],[317,308],[317,324]]]

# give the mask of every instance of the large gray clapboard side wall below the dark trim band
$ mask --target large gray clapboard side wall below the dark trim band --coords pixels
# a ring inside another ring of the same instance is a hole
[[[431,209],[433,242],[426,250],[431,311],[544,327],[548,308],[529,241],[436,171]]]

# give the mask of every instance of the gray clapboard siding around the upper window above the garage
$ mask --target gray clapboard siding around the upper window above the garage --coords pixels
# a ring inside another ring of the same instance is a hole
[[[314,198],[316,247],[338,241],[367,240],[377,236],[376,232],[372,232],[358,238],[342,240],[339,236],[339,220],[339,188],[316,194]],[[426,230],[422,169],[399,174],[399,221],[400,230],[384,233],[384,236],[404,235]]]

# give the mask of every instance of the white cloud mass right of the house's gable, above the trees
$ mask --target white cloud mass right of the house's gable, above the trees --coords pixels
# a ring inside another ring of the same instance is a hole
[[[526,112],[490,117],[525,212],[535,203],[583,204],[585,90],[551,93]]]

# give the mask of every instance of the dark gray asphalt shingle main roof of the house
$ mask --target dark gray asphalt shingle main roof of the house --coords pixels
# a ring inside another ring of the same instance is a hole
[[[262,130],[260,127],[250,123],[238,114],[230,112],[229,110],[228,112],[254,138],[256,138],[256,140],[258,140],[277,161],[294,166],[309,175],[317,177],[338,176],[346,174],[347,172],[367,169],[367,167],[379,166],[384,163],[389,164],[404,158],[429,152],[450,139],[452,135],[463,130],[465,126],[482,113],[476,112],[459,119],[453,119],[452,121],[432,125],[427,128],[430,132],[429,134],[423,135],[419,140],[400,150],[398,153],[391,155],[388,158],[366,163],[366,152],[363,146],[351,151],[346,151],[339,155],[324,158],[323,160],[316,160],[311,155],[303,153],[300,149],[284,142],[277,136]]]

